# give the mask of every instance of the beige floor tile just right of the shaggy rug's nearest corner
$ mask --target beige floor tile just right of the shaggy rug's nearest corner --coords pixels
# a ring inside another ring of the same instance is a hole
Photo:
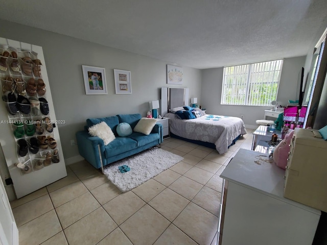
[[[139,185],[136,188],[132,189],[132,191],[136,195],[138,195],[139,198],[142,198],[145,202],[149,202],[165,188],[166,186],[160,184],[158,181],[150,179],[142,185]]]

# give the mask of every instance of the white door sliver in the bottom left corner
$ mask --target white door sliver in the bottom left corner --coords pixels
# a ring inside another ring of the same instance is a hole
[[[0,177],[0,241],[2,245],[18,245],[18,229]]]

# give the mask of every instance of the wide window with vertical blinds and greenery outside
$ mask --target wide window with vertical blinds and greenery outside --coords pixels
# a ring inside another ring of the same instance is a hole
[[[277,98],[283,60],[224,67],[222,105],[270,106]]]

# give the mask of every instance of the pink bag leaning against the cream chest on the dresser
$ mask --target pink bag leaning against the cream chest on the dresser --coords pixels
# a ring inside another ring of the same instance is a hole
[[[287,134],[285,135],[285,138],[279,144],[277,144],[274,150],[274,163],[280,168],[286,169],[288,153],[290,151],[289,144],[291,143],[293,134],[294,130],[288,130]]]

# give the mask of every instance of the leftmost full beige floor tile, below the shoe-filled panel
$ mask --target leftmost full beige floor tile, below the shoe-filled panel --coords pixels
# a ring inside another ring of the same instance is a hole
[[[49,194],[42,195],[28,203],[12,209],[17,227],[30,222],[32,219],[54,209]]]

